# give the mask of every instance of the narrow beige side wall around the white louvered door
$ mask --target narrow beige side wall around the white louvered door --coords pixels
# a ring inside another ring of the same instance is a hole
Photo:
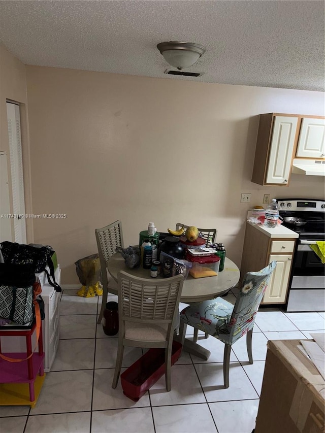
[[[11,191],[11,170],[8,141],[7,99],[20,104],[20,120],[22,135],[22,155],[24,171],[25,208],[31,212],[31,181],[29,159],[29,134],[25,65],[14,57],[0,44],[0,151],[7,152],[8,182]],[[10,207],[13,213],[12,194],[10,192]],[[1,212],[0,212],[1,213]],[[14,234],[13,220],[12,234]],[[27,241],[32,242],[32,221],[26,221]],[[13,239],[14,240],[14,239]]]

